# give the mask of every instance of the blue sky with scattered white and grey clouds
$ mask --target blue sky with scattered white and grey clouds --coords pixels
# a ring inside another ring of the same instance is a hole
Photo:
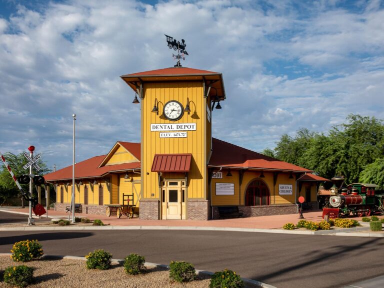
[[[384,119],[384,1],[0,0],[0,151],[29,145],[49,167],[139,142],[120,75],[183,66],[221,72],[213,136],[254,151],[349,113]]]

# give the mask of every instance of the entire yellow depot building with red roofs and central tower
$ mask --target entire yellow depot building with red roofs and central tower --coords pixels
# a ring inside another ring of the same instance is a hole
[[[124,204],[123,195],[142,219],[208,220],[223,213],[219,207],[244,216],[296,213],[299,196],[316,204],[326,179],[212,138],[212,117],[225,100],[221,73],[172,67],[121,78],[140,99],[133,103],[141,106],[141,141],[117,142],[75,165],[82,213],[105,213]],[[56,210],[69,205],[71,178],[71,166],[45,175],[57,185]]]

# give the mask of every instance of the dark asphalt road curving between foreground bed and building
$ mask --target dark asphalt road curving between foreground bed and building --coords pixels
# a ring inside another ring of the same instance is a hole
[[[0,252],[37,239],[45,254],[113,258],[138,253],[147,262],[188,261],[196,269],[236,271],[277,288],[339,288],[384,275],[384,239],[218,231],[106,230],[0,232]]]

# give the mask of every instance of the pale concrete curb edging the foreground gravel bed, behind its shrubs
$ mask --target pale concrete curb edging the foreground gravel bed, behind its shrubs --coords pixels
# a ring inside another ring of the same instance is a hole
[[[0,253],[0,256],[10,256],[12,255],[11,253]],[[42,259],[71,259],[71,260],[80,260],[80,261],[86,261],[85,257],[81,256],[61,256],[61,255],[43,255]],[[124,260],[123,259],[112,259],[113,264],[118,264],[118,265],[123,265]],[[169,269],[168,265],[164,264],[156,264],[156,263],[150,263],[150,262],[145,262],[144,264],[147,267],[152,267],[152,268],[163,268],[163,269]],[[207,276],[212,276],[214,273],[209,272],[209,271],[204,271],[204,270],[195,270],[197,275],[207,275]],[[261,288],[276,288],[274,286],[271,286],[269,284],[265,284],[256,280],[248,279],[248,278],[241,278],[242,281],[245,283],[257,285]]]

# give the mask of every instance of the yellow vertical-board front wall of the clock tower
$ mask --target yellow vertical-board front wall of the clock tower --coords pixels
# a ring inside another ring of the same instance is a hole
[[[189,98],[190,114],[184,113],[181,119],[169,121],[162,116],[164,104],[176,100],[184,107]],[[151,112],[154,99],[159,101],[159,113]],[[188,198],[204,198],[206,189],[206,153],[204,146],[204,123],[206,99],[203,97],[202,82],[145,83],[144,99],[141,101],[141,169],[143,175],[143,198],[159,199],[157,173],[151,172],[154,154],[191,153],[192,162],[188,173]],[[196,123],[196,131],[187,131],[186,138],[160,138],[158,131],[150,131],[150,124]],[[147,175],[146,173],[149,173]],[[151,193],[154,196],[151,196]]]

